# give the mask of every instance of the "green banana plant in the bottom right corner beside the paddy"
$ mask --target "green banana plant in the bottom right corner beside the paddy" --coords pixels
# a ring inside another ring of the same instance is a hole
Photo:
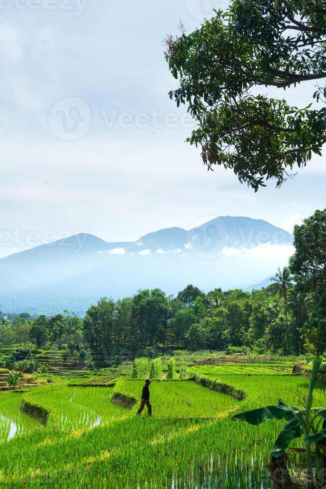
[[[313,409],[314,387],[322,362],[323,356],[314,360],[304,409],[287,406],[279,399],[277,405],[233,416],[234,420],[246,421],[251,425],[260,425],[271,419],[287,421],[272,448],[271,456],[274,458],[281,457],[292,440],[304,437],[308,474],[307,489],[315,488],[314,467],[318,484],[326,484],[326,409]]]

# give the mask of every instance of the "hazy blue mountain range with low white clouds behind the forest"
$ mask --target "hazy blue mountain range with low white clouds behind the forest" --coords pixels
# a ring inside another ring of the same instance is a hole
[[[14,301],[16,312],[83,314],[102,296],[119,299],[140,288],[245,288],[284,266],[292,243],[291,234],[266,221],[230,216],[136,242],[75,235],[0,259],[0,309],[11,311]]]

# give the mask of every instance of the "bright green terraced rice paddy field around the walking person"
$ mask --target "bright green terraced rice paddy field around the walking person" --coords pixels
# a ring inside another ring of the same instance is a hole
[[[1,485],[269,488],[266,464],[284,422],[254,427],[234,422],[232,413],[274,404],[279,397],[298,405],[309,380],[270,372],[221,373],[219,366],[216,371],[211,367],[193,369],[197,376],[243,390],[244,400],[191,381],[155,381],[153,417],[148,418],[146,408],[136,416],[141,380],[124,378],[114,387],[86,389],[69,387],[64,379],[22,393],[0,393]],[[131,409],[113,404],[117,393],[137,403]],[[19,406],[24,405],[47,413],[46,423],[22,413]],[[314,405],[326,406],[325,384],[317,385]]]

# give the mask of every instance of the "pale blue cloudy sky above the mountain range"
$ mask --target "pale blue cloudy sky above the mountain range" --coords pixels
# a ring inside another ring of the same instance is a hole
[[[177,83],[163,38],[226,6],[0,0],[0,257],[77,233],[136,241],[225,215],[291,231],[326,207],[325,152],[280,190],[255,194],[230,171],[207,172],[185,143],[195,126],[169,100]],[[314,85],[275,90],[304,106]]]

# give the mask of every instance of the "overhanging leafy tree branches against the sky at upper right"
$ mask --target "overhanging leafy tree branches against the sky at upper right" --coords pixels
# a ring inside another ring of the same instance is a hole
[[[208,169],[231,168],[257,191],[270,178],[280,186],[313,153],[321,155],[324,105],[297,108],[257,92],[316,80],[311,101],[325,101],[325,0],[234,0],[226,12],[215,11],[199,29],[166,43],[179,80],[169,95],[178,106],[187,103],[197,120],[187,141],[201,146]]]

